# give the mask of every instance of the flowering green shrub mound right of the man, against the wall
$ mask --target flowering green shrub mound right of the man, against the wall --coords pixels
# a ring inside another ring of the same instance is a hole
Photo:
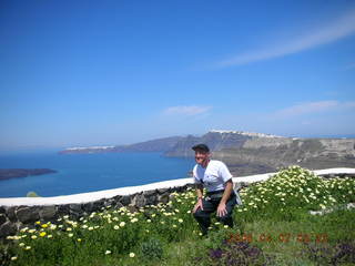
[[[324,180],[300,166],[280,171],[265,182],[252,184],[241,195],[237,212],[248,219],[281,217],[292,221],[300,211],[318,211],[354,200],[355,181]]]

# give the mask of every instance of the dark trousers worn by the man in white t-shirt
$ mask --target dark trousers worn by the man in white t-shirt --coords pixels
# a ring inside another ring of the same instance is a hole
[[[203,211],[199,208],[193,216],[200,224],[200,228],[203,235],[207,234],[209,227],[211,225],[211,214],[216,212],[219,204],[221,202],[222,197],[213,197],[209,198],[209,194],[206,198],[202,200],[203,204]],[[233,207],[236,204],[236,198],[235,194],[232,192],[230,198],[225,203],[225,208],[226,208],[226,215],[220,217],[217,216],[217,221],[223,223],[224,225],[227,225],[230,227],[233,227],[233,218],[232,218],[232,213],[233,213]]]

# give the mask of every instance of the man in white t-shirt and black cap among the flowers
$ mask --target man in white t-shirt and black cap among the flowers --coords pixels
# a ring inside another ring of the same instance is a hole
[[[192,150],[195,151],[197,163],[193,168],[197,194],[193,215],[200,224],[202,234],[207,234],[211,224],[210,215],[215,211],[220,222],[233,227],[232,213],[236,204],[236,195],[229,168],[223,162],[210,158],[211,153],[207,145],[197,144]],[[203,187],[207,191],[205,198],[203,198]]]

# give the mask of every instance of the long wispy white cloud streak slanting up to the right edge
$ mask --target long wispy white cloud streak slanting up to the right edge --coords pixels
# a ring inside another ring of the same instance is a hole
[[[337,20],[334,20],[333,22],[316,30],[310,31],[307,34],[297,39],[278,43],[273,48],[265,48],[264,50],[237,54],[236,57],[215,63],[214,68],[227,68],[280,58],[312,49],[321,44],[329,43],[353,33],[355,33],[355,10],[352,10],[339,17]]]

